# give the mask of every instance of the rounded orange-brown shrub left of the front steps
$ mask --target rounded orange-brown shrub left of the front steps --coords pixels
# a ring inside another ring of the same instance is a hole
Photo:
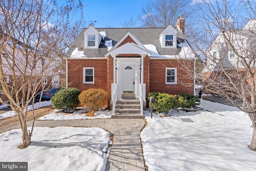
[[[97,111],[104,106],[108,93],[104,89],[88,89],[79,95],[82,105],[89,107],[90,111]]]

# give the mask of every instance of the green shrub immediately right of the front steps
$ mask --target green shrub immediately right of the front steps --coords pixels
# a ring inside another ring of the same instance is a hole
[[[156,103],[153,104],[153,108],[158,113],[166,112],[174,107],[174,96],[167,93],[149,93],[148,99],[152,96]],[[150,104],[151,106],[151,104]]]

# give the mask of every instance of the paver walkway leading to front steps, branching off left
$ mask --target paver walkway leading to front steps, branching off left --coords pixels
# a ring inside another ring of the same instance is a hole
[[[145,171],[140,146],[144,119],[81,119],[36,121],[36,127],[100,127],[114,134],[106,171]],[[31,123],[28,123],[31,126]]]

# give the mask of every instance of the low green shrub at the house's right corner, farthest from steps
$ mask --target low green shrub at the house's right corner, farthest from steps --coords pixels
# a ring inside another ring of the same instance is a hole
[[[200,98],[192,94],[179,94],[175,101],[175,107],[190,108],[200,104]]]

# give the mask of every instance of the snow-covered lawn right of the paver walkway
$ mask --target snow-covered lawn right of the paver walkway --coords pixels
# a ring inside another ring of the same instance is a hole
[[[150,118],[141,132],[149,171],[254,171],[256,152],[248,148],[253,129],[246,113],[201,99],[207,109],[170,111],[171,117]],[[210,112],[213,111],[213,112]]]

